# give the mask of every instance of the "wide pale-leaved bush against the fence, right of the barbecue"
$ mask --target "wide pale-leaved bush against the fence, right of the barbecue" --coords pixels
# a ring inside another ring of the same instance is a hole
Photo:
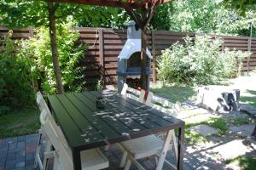
[[[159,78],[164,83],[216,84],[241,71],[241,61],[248,53],[220,51],[220,38],[195,37],[195,42],[186,37],[164,50],[158,60]]]

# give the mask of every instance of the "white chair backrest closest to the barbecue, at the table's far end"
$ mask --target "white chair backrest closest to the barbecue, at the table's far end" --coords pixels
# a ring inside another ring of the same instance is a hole
[[[125,95],[128,98],[135,99],[141,103],[144,101],[145,91],[142,89],[141,91],[138,91],[137,89],[130,88],[126,83],[124,83],[122,92],[122,95]]]

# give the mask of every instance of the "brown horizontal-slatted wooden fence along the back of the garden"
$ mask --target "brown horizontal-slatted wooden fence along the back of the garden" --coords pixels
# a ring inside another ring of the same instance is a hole
[[[126,41],[125,29],[109,29],[109,28],[76,28],[80,33],[80,40],[88,44],[87,54],[82,60],[82,65],[86,66],[84,72],[85,81],[88,85],[95,84],[101,77],[106,84],[117,82],[117,60],[118,55]],[[0,26],[0,37],[8,32],[6,27]],[[32,37],[32,28],[14,30],[13,38],[28,38]],[[154,56],[152,62],[152,79],[156,81],[157,71],[155,59],[160,55],[161,50],[169,48],[173,43],[183,42],[183,37],[195,37],[195,33],[183,33],[175,31],[148,31],[148,49]],[[230,48],[241,51],[251,49],[253,53],[249,59],[243,60],[242,71],[252,71],[256,66],[256,37],[253,37],[251,42],[249,37],[233,37],[233,36],[218,36],[222,37],[222,49]],[[251,44],[251,45],[250,45]],[[248,61],[248,62],[247,62]]]

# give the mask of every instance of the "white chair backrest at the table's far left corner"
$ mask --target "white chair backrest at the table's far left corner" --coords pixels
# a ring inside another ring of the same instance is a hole
[[[40,122],[41,125],[44,125],[44,123],[47,121],[47,119],[49,118],[49,116],[51,116],[50,111],[49,111],[49,107],[46,104],[42,94],[40,92],[37,93],[37,103],[38,103],[38,107],[41,111],[40,113]]]

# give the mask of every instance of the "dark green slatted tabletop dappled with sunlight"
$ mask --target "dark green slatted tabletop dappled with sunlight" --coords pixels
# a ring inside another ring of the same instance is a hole
[[[107,100],[96,108],[96,97]],[[87,150],[183,127],[184,122],[114,92],[51,95],[49,108],[73,150]]]

